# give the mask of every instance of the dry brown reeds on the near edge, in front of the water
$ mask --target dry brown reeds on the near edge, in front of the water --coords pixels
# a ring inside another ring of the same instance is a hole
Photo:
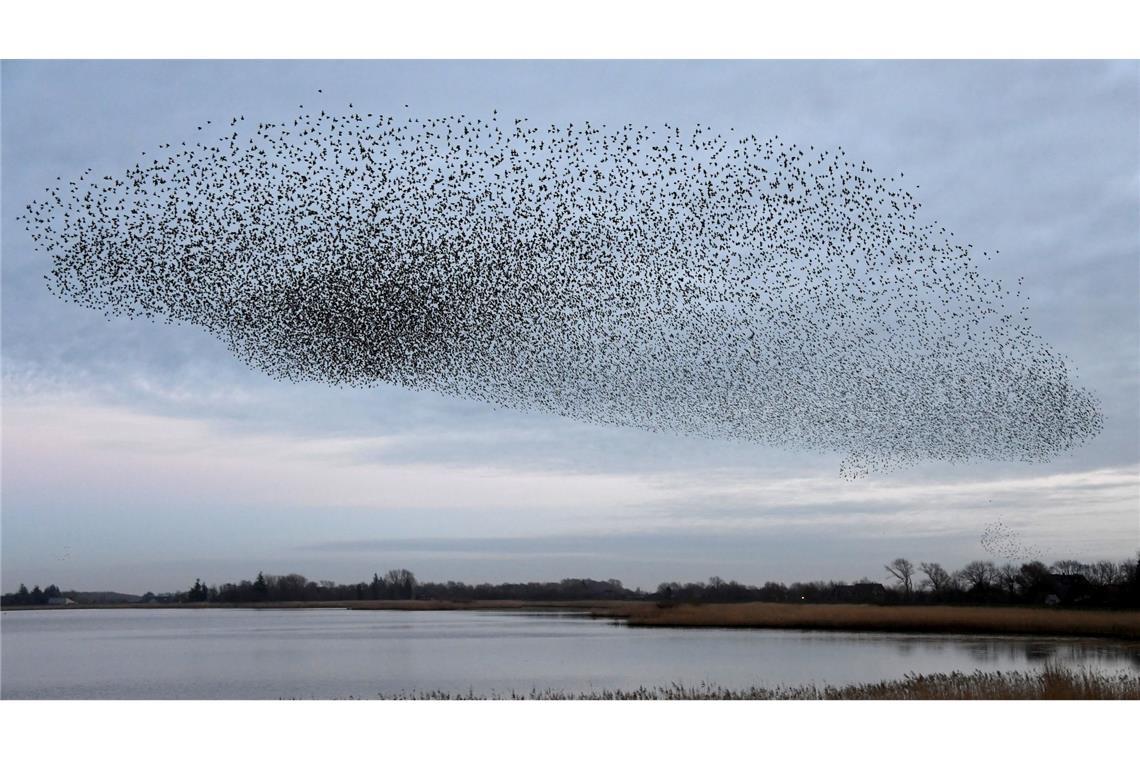
[[[641,687],[568,693],[534,689],[529,693],[479,695],[472,692],[416,692],[388,695],[390,700],[1140,700],[1140,675],[1106,676],[1089,671],[1047,668],[1035,672],[910,675],[897,680],[853,686],[775,686],[744,689],[701,683],[697,686]]]

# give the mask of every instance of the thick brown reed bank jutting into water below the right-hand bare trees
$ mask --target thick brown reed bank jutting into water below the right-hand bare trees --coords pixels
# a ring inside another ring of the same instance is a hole
[[[904,634],[1019,634],[1140,640],[1140,611],[861,604],[636,604],[600,610],[630,626],[799,628]]]

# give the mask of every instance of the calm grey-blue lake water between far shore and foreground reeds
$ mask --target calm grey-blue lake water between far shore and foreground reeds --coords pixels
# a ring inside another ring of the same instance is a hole
[[[1140,646],[1112,641],[640,629],[498,611],[5,612],[0,651],[3,698],[57,700],[838,685],[1047,662],[1140,672]]]

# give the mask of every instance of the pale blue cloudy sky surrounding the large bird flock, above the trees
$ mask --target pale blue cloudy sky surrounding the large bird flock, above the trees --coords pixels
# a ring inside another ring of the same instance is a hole
[[[6,591],[390,567],[643,588],[885,581],[897,556],[1010,559],[980,544],[997,522],[1047,561],[1140,548],[1135,62],[5,62],[0,76]],[[1034,327],[1100,398],[1105,430],[1044,464],[847,481],[839,453],[278,383],[196,328],[107,319],[48,292],[48,256],[16,216],[56,177],[115,174],[205,120],[348,103],[700,122],[905,172],[925,219],[1000,251],[987,273],[1025,278]]]

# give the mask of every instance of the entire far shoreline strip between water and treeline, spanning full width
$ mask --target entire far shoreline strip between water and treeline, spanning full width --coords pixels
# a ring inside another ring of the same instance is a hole
[[[634,628],[798,629],[847,632],[944,634],[962,636],[1065,636],[1140,641],[1140,611],[970,607],[950,605],[881,606],[860,604],[677,604],[656,602],[474,602],[343,600],[255,602],[246,604],[73,604],[5,607],[30,610],[392,610],[392,611],[575,611]]]

